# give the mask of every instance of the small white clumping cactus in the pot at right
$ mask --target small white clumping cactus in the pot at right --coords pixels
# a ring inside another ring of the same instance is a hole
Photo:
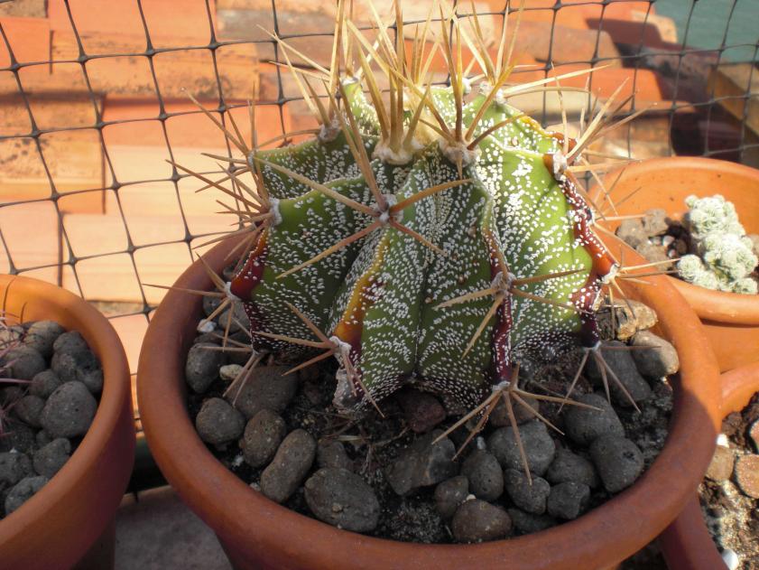
[[[680,258],[680,276],[708,289],[756,294],[756,281],[749,275],[759,259],[738,221],[736,207],[718,194],[706,198],[691,195],[685,204],[690,210],[684,221],[697,255]]]

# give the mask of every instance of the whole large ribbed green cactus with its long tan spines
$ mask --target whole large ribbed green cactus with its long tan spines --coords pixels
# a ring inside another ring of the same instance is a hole
[[[317,72],[291,66],[316,136],[237,145],[256,181],[250,196],[240,192],[255,240],[227,293],[244,303],[257,352],[338,359],[334,403],[345,412],[405,383],[471,409],[524,359],[599,341],[599,293],[618,266],[571,170],[600,121],[577,140],[544,130],[507,103],[531,86],[504,87],[508,58],[487,51],[477,54],[485,79],[467,94],[461,21],[444,18],[436,43],[449,85],[430,86],[420,78],[434,50],[425,59],[419,38],[408,63],[383,24],[375,50],[339,20],[338,55],[324,70],[329,104],[311,87]]]

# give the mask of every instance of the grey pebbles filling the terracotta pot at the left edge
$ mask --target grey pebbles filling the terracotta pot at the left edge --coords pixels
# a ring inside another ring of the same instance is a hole
[[[57,322],[0,328],[0,519],[69,460],[95,417],[103,369]]]

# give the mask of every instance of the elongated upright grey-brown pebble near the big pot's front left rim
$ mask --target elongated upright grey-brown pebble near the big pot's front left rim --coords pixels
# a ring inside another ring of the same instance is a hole
[[[316,440],[302,429],[284,438],[273,462],[261,473],[261,492],[282,503],[288,500],[306,478],[316,457]]]

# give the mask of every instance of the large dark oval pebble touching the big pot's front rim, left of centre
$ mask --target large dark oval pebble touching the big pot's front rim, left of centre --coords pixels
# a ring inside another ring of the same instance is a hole
[[[317,519],[354,532],[374,530],[380,504],[375,491],[353,472],[326,467],[305,484],[306,504]]]

